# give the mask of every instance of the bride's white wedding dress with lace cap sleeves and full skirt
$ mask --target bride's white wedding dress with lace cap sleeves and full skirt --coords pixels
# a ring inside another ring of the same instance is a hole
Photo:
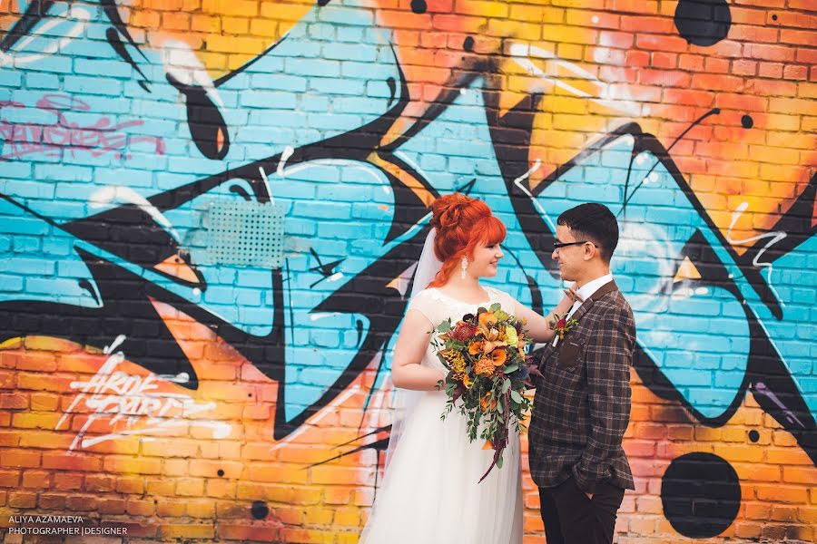
[[[428,288],[411,299],[408,310],[418,310],[434,326],[449,317],[456,323],[476,314],[477,307],[496,302],[513,312],[511,296],[490,287],[486,291],[489,300],[469,304]],[[422,364],[446,372],[430,344]],[[477,483],[494,452],[483,450],[485,441],[478,437],[468,442],[467,419],[457,407],[440,421],[446,398],[440,391],[419,393],[416,407],[402,422],[361,544],[521,544],[522,474],[515,425],[508,431],[502,468],[494,467]]]

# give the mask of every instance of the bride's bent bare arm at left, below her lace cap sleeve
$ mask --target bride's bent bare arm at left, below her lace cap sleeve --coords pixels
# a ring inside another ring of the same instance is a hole
[[[421,312],[408,310],[400,327],[391,363],[391,381],[395,387],[434,391],[437,389],[438,381],[445,379],[446,376],[438,370],[420,365],[431,340],[432,328],[434,325],[431,325]]]

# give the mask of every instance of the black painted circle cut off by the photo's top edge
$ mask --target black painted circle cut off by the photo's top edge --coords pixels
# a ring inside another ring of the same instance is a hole
[[[675,7],[675,28],[690,44],[717,44],[731,26],[732,13],[726,0],[681,0]]]

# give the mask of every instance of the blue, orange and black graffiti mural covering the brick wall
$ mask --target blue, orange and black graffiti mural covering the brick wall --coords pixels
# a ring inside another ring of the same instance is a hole
[[[817,538],[817,13],[767,4],[0,2],[0,512],[356,541],[458,190],[538,311],[556,217],[619,220],[623,542]]]

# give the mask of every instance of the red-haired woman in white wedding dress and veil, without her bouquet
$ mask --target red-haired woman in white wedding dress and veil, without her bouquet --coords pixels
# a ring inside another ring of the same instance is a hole
[[[399,393],[385,475],[360,543],[521,544],[522,473],[515,426],[508,432],[502,468],[477,483],[494,452],[482,449],[484,441],[468,442],[466,417],[456,408],[440,420],[447,397],[438,381],[447,371],[430,344],[431,331],[448,318],[456,322],[476,314],[479,306],[499,303],[527,319],[534,341],[546,342],[553,338],[551,317],[480,285],[480,277],[497,275],[503,257],[499,244],[506,235],[485,202],[455,193],[437,199],[431,209],[433,230],[415,272],[416,294],[394,348],[391,377]],[[566,314],[571,296],[554,311]]]

